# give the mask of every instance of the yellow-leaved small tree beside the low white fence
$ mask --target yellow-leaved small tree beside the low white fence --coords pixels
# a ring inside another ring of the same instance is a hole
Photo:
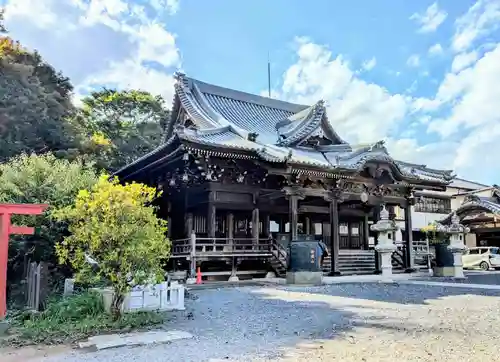
[[[166,221],[150,206],[156,197],[154,188],[121,185],[103,176],[90,192],[82,190],[72,206],[56,213],[69,223],[71,233],[56,246],[60,263],[69,263],[81,282],[108,283],[113,288],[111,311],[117,318],[133,286],[152,277],[163,279],[170,243]]]

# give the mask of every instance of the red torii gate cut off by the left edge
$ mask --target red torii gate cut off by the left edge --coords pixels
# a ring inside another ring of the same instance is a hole
[[[32,235],[35,229],[29,226],[13,226],[11,215],[40,215],[49,205],[45,204],[0,204],[0,321],[7,313],[7,261],[9,235]]]

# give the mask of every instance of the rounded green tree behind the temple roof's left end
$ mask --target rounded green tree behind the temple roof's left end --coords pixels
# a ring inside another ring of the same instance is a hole
[[[160,96],[103,89],[83,99],[74,123],[88,135],[87,153],[95,156],[99,166],[116,171],[160,145],[168,117]]]

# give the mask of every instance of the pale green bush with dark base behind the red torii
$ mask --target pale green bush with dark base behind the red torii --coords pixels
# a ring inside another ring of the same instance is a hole
[[[35,226],[35,235],[9,242],[9,283],[19,282],[28,259],[56,266],[54,245],[67,235],[67,226],[51,218],[54,210],[71,205],[80,190],[98,180],[92,164],[57,159],[52,154],[20,155],[0,164],[0,203],[49,204],[44,216],[16,216],[18,225]],[[59,269],[53,269],[57,277]],[[57,278],[55,278],[57,281]]]

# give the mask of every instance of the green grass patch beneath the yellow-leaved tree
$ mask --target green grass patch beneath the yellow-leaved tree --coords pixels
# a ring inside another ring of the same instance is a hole
[[[10,319],[10,345],[74,343],[84,338],[146,329],[166,320],[165,313],[137,312],[113,318],[104,311],[98,293],[85,292],[48,303],[41,313],[22,312]]]

